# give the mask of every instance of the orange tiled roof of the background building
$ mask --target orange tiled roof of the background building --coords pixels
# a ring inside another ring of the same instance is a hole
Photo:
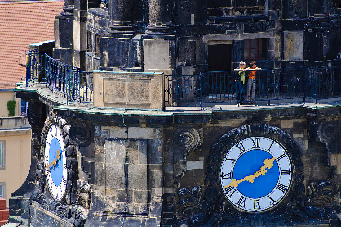
[[[3,2],[0,0],[0,90],[26,76],[29,45],[54,40],[54,18],[64,1]]]

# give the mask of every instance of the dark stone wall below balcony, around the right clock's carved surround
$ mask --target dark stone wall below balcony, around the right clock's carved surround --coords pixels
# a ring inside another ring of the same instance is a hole
[[[278,114],[280,114],[280,112],[278,112]],[[184,201],[178,200],[178,190],[183,190],[184,188],[191,191],[195,186],[199,186],[202,188],[203,196],[207,199],[207,195],[205,194],[205,192],[207,192],[207,185],[205,183],[207,174],[213,174],[213,172],[214,174],[219,174],[219,169],[213,170],[212,173],[208,173],[210,171],[208,165],[210,163],[209,156],[212,154],[212,147],[226,132],[240,127],[243,124],[258,125],[264,122],[288,133],[301,153],[300,161],[302,163],[302,173],[304,176],[302,182],[305,188],[303,188],[303,190],[305,190],[307,196],[309,196],[309,188],[311,189],[312,182],[320,184],[324,181],[330,181],[333,194],[338,194],[338,182],[341,176],[340,172],[337,170],[340,167],[336,161],[338,156],[336,150],[341,145],[339,142],[336,142],[339,135],[339,116],[324,117],[322,119],[304,116],[273,116],[256,120],[252,120],[248,117],[244,118],[243,116],[239,116],[237,119],[223,120],[223,116],[224,115],[220,115],[217,120],[212,119],[209,124],[192,125],[192,127],[201,135],[199,136],[201,143],[200,146],[195,147],[189,152],[188,150],[180,152],[181,148],[179,147],[181,147],[181,144],[179,145],[174,139],[177,135],[177,130],[181,127],[166,127],[164,129],[164,139],[165,141],[168,141],[165,143],[164,150],[164,187],[171,188],[172,185],[174,185],[175,191],[163,195],[163,200],[167,201],[167,203],[163,204],[165,207],[162,219],[163,226],[174,225],[181,221],[181,219],[189,218],[196,214],[193,210],[188,213],[180,212],[179,208]],[[318,126],[315,127],[315,124],[318,124]],[[314,129],[312,129],[313,126],[315,127]],[[320,137],[315,136],[319,137],[320,140],[314,139],[314,133],[320,133]],[[168,155],[168,152],[173,155]],[[217,166],[220,168],[219,163]],[[219,183],[217,182],[217,184]],[[217,188],[218,195],[220,194],[220,190],[220,188]],[[198,194],[196,196],[198,196]],[[170,201],[173,201],[173,210]],[[339,209],[338,200],[335,199],[335,197],[333,199],[330,198],[329,205],[332,207],[336,205],[335,209]],[[193,207],[195,207],[195,205],[193,205]],[[172,213],[173,219],[170,217]]]

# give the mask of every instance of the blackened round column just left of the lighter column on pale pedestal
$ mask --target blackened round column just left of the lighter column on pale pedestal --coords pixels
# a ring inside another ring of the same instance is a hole
[[[108,0],[108,14],[111,22],[109,33],[136,33],[134,0]]]

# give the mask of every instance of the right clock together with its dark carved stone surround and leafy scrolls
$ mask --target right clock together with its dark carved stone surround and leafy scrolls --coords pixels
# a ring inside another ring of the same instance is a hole
[[[264,160],[264,164],[256,164],[257,158]],[[255,164],[250,164],[250,173],[244,173],[249,162]],[[212,146],[204,188],[178,190],[177,226],[259,226],[316,221],[340,226],[340,219],[330,206],[333,195],[330,182],[311,182],[307,197],[302,169],[301,153],[286,132],[265,123],[234,128]],[[266,182],[274,180],[273,185],[262,183],[264,178],[260,176],[267,177]],[[254,185],[261,190],[252,191]]]

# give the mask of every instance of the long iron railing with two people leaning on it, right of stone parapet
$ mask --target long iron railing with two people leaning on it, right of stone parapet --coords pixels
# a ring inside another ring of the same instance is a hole
[[[202,72],[165,75],[165,106],[203,103],[317,100],[341,96],[341,67],[292,67],[251,71]],[[244,74],[244,75],[243,75]],[[244,77],[244,78],[242,78]],[[244,81],[245,83],[242,83]],[[254,95],[252,94],[254,93]]]

